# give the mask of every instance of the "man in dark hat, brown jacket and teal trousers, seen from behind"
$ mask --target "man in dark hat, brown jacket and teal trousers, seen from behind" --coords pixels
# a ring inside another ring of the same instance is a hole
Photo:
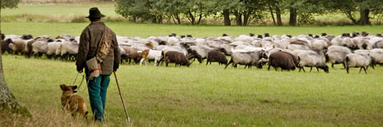
[[[79,42],[79,53],[77,54],[77,71],[82,73],[85,68],[87,80],[91,71],[87,67],[86,61],[94,58],[98,54],[99,42],[106,30],[106,25],[101,22],[101,18],[105,17],[98,8],[90,8],[89,18],[91,23],[82,31]],[[110,30],[110,29],[109,29]],[[101,75],[88,81],[89,100],[91,103],[91,111],[93,112],[95,121],[104,121],[104,109],[106,100],[106,90],[109,86],[111,73],[117,71],[120,63],[120,49],[118,48],[116,34],[110,30],[111,46],[108,55],[101,64]]]

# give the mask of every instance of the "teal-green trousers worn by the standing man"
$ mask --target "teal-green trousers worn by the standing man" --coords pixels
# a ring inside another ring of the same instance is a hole
[[[88,92],[89,101],[91,103],[91,111],[95,121],[104,121],[104,109],[106,100],[106,90],[108,89],[111,79],[110,75],[100,75],[97,78],[89,80]]]

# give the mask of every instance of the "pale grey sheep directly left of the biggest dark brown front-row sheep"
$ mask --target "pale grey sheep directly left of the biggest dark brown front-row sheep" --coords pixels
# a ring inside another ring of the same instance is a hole
[[[225,68],[228,67],[230,63],[233,63],[234,68],[237,67],[237,64],[245,65],[245,68],[251,68],[252,65],[255,65],[257,68],[262,68],[262,61],[260,59],[267,59],[267,54],[265,52],[233,52],[231,55],[230,61],[226,64]]]

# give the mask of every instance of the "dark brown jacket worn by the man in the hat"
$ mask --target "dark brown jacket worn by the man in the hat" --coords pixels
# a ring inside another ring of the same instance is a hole
[[[96,56],[97,48],[99,47],[99,42],[101,36],[104,32],[106,25],[103,22],[96,21],[91,22],[87,28],[85,28],[80,36],[79,42],[79,53],[77,54],[77,71],[82,71],[85,68],[85,72],[89,73],[87,60]],[[113,38],[111,47],[109,48],[108,56],[101,63],[101,75],[110,75],[113,70],[117,70],[120,64],[120,49],[118,48],[116,34],[111,31]]]

